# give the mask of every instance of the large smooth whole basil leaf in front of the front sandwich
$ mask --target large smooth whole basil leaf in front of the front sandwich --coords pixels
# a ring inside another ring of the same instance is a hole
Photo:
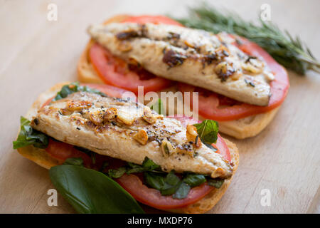
[[[144,213],[128,192],[101,172],[58,165],[49,174],[58,192],[79,213]]]

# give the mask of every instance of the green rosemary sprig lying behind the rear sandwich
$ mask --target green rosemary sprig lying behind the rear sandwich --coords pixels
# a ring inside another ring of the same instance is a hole
[[[270,21],[265,22],[260,19],[260,24],[257,25],[244,21],[234,12],[222,13],[208,4],[190,8],[188,17],[176,20],[191,28],[213,33],[225,31],[248,38],[264,48],[282,66],[301,75],[307,70],[320,73],[320,63],[299,36],[294,38],[288,31],[281,31]]]

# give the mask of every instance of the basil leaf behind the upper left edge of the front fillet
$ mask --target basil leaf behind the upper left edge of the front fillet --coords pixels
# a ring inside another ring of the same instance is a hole
[[[77,93],[77,92],[96,93],[104,97],[107,96],[105,95],[105,93],[102,93],[99,90],[96,90],[94,88],[89,88],[87,86],[80,86],[78,82],[75,82],[75,83],[70,83],[69,85],[63,86],[63,88],[61,88],[61,90],[57,93],[57,95],[55,95],[55,98],[53,98],[52,101],[66,98],[68,95],[72,93]]]

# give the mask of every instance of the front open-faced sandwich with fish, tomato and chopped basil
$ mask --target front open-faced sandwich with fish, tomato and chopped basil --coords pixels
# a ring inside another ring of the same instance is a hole
[[[108,85],[53,86],[21,117],[14,148],[46,169],[77,163],[99,170],[138,202],[157,209],[182,213],[211,209],[237,170],[235,144],[218,134],[213,120],[164,117],[134,99],[122,98],[125,92]],[[72,181],[63,179],[66,185]],[[100,182],[89,180],[86,185],[98,187]],[[75,192],[67,189],[73,205],[81,207],[72,196],[82,186]]]

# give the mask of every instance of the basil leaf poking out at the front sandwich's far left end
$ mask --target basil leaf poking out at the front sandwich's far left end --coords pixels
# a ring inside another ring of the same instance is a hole
[[[23,116],[20,118],[20,133],[16,141],[13,142],[14,149],[33,145],[38,148],[46,148],[49,143],[48,135],[31,128],[30,121]]]

